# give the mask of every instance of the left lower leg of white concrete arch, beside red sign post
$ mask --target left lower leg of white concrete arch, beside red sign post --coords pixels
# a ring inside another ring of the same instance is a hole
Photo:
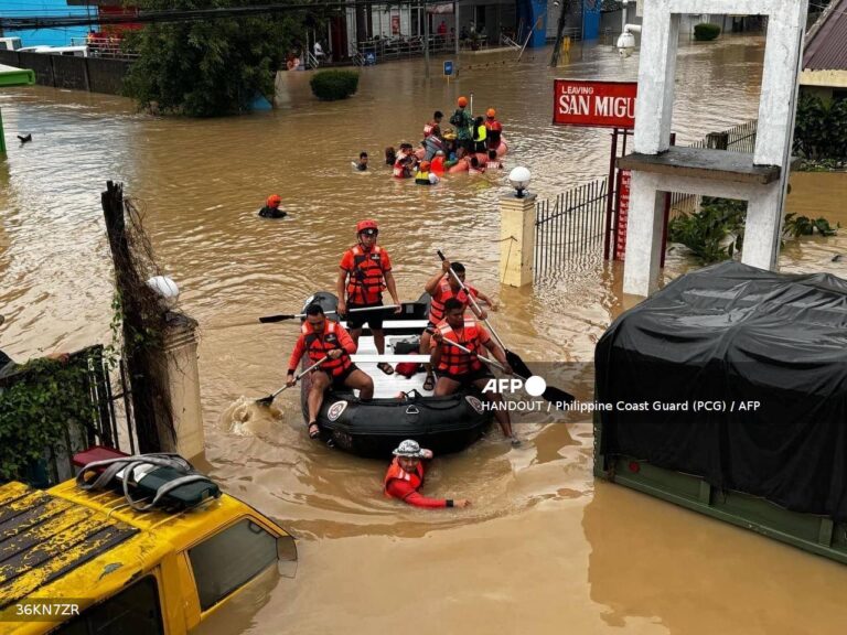
[[[658,288],[662,261],[662,220],[665,196],[655,187],[655,177],[632,172],[630,211],[626,220],[626,252],[623,292],[650,295]]]

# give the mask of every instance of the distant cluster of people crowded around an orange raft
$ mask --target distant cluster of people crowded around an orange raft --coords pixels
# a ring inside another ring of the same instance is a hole
[[[457,108],[449,119],[452,129],[442,128],[444,114],[436,110],[424,126],[424,140],[415,149],[411,143],[400,143],[399,150],[386,148],[385,162],[392,166],[396,179],[415,177],[420,185],[431,185],[444,172],[481,174],[486,170],[500,170],[500,158],[506,152],[503,142],[503,125],[494,108],[485,117],[474,117],[468,110],[468,98],[459,97]]]

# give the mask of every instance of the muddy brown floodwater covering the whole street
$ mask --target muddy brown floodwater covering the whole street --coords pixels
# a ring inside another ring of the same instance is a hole
[[[761,37],[680,49],[678,143],[757,117]],[[282,386],[298,334],[294,323],[257,319],[333,289],[363,217],[380,224],[403,300],[420,295],[442,249],[500,300],[493,322],[522,357],[592,362],[605,327],[634,302],[622,297],[622,269],[585,257],[533,288],[501,287],[497,200],[512,192],[504,176],[515,165],[530,169],[539,198],[605,174],[608,131],[550,125],[553,79],[634,80],[637,55],[575,46],[557,69],[548,50],[519,65],[515,56],[462,57],[461,78],[449,85],[437,75],[440,60],[429,82],[422,61],[365,68],[358,94],[330,104],[311,96],[308,74],[281,74],[280,108],[213,120],[141,115],[119,97],[3,90],[7,138],[31,132],[33,142],[10,143],[0,161],[2,348],[25,359],[110,341],[99,197],[107,180],[124,182],[180,284],[181,308],[201,324],[207,467],[300,538],[296,580],[265,580],[204,633],[372,634],[410,620],[422,632],[464,634],[841,633],[847,568],[596,482],[588,418],[519,424],[519,449],[493,430],[437,460],[426,492],[473,502],[439,512],[385,498],[384,464],[310,442],[296,390],[277,400],[279,417],[256,411],[234,423],[244,397]],[[433,110],[449,118],[471,93],[474,111],[497,109],[506,170],[429,189],[393,180],[383,149],[416,143]],[[372,164],[364,174],[350,165],[362,150]],[[795,174],[789,211],[847,225],[844,176]],[[291,216],[257,218],[274,192]],[[782,268],[847,277],[847,259],[833,261],[845,252],[844,230],[790,241]],[[666,279],[689,267],[672,251]],[[564,388],[592,395],[590,368],[571,379]]]

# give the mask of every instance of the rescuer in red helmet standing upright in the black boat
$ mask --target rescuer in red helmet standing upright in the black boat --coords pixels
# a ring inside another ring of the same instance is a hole
[[[397,305],[394,312],[400,313],[403,311],[399,295],[397,295],[397,286],[392,273],[392,260],[388,258],[388,252],[376,244],[378,234],[379,227],[377,227],[376,220],[368,218],[356,224],[358,245],[344,252],[341,258],[339,279],[335,283],[339,295],[339,314],[341,315],[353,309],[382,306],[383,290],[386,288]],[[350,335],[353,341],[358,343],[362,326],[367,323],[374,334],[376,351],[383,355],[385,353],[383,318],[377,316],[376,313],[379,311],[351,312],[347,326],[350,326]],[[376,367],[386,375],[394,374],[394,368],[387,362],[380,362]]]

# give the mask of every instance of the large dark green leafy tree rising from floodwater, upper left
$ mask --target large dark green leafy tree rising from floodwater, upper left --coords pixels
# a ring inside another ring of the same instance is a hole
[[[267,0],[139,0],[143,11],[215,9],[267,4]],[[276,72],[286,53],[301,47],[304,11],[154,22],[128,36],[139,53],[124,92],[142,107],[193,117],[249,110],[258,95],[272,103]]]

